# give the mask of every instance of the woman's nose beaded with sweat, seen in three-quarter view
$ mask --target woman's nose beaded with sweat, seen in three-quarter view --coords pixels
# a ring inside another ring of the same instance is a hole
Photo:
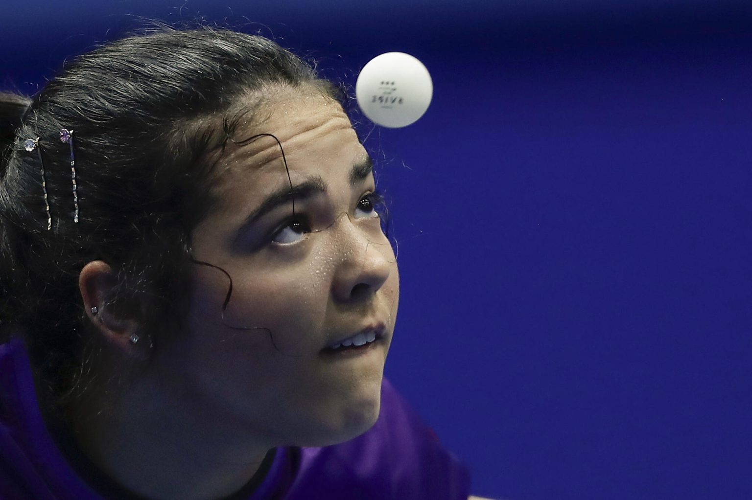
[[[370,232],[342,217],[344,235],[335,242],[341,262],[335,271],[333,293],[341,302],[362,301],[374,295],[392,271],[392,247],[384,235],[374,238]]]

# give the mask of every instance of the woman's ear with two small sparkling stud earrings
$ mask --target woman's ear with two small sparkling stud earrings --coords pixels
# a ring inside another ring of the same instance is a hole
[[[89,262],[78,275],[83,308],[96,331],[118,352],[135,359],[147,359],[151,339],[147,338],[140,317],[116,302],[116,286],[114,271],[101,260]]]

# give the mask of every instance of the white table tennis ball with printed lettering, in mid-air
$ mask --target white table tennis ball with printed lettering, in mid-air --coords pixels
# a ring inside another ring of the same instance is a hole
[[[355,96],[374,123],[396,129],[414,123],[431,104],[433,83],[426,66],[404,52],[387,52],[363,66]]]

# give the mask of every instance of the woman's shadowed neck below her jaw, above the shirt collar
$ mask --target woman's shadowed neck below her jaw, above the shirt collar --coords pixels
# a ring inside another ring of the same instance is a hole
[[[83,454],[130,492],[154,500],[224,498],[253,478],[274,445],[208,408],[185,387],[144,374],[71,412],[96,417],[71,421],[79,423],[73,430]]]

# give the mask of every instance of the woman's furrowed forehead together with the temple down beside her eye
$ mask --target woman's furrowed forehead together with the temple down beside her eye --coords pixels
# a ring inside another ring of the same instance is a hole
[[[254,135],[260,136],[247,140]],[[194,250],[218,257],[217,252],[225,250],[217,250],[217,241],[232,247],[247,217],[274,192],[289,189],[290,183],[317,177],[329,186],[332,200],[350,200],[353,166],[367,160],[347,114],[332,98],[288,94],[268,99],[247,123],[238,123],[232,141],[216,160],[217,177],[210,188],[214,204],[194,229]]]

